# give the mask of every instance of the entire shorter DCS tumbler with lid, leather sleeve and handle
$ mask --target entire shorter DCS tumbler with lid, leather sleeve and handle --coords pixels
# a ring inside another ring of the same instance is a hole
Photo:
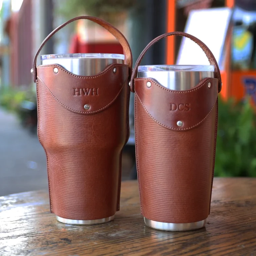
[[[152,45],[174,35],[194,41],[209,65],[140,66]],[[130,89],[140,206],[147,226],[170,231],[205,226],[211,208],[221,88],[214,55],[187,33],[158,36],[137,59]]]

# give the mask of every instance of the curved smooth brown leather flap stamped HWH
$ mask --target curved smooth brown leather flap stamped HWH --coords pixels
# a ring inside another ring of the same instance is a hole
[[[54,68],[58,69],[57,73]],[[81,114],[96,113],[109,107],[123,86],[128,86],[128,76],[129,68],[124,64],[111,64],[94,76],[77,76],[60,65],[37,67],[38,86],[45,86],[64,108]],[[85,109],[85,105],[89,109]]]

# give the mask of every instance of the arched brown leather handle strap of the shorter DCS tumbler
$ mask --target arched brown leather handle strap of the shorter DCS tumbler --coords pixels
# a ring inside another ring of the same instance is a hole
[[[142,58],[144,57],[145,53],[148,51],[148,49],[153,45],[155,44],[156,42],[158,42],[159,40],[167,37],[167,36],[184,36],[184,37],[187,37],[189,39],[191,39],[192,41],[194,41],[195,43],[197,43],[201,49],[204,51],[204,53],[206,54],[209,62],[211,65],[214,66],[214,77],[215,78],[218,78],[219,80],[219,92],[221,91],[221,86],[222,86],[222,83],[221,83],[221,76],[220,76],[220,70],[219,70],[219,66],[218,66],[218,63],[214,57],[214,55],[212,54],[212,52],[210,51],[210,49],[201,41],[199,40],[198,38],[190,35],[190,34],[187,34],[187,33],[184,33],[184,32],[170,32],[170,33],[166,33],[166,34],[163,34],[161,36],[158,36],[156,37],[155,39],[153,39],[147,46],[146,48],[142,51],[142,53],[140,54],[139,58],[137,59],[136,63],[135,63],[135,66],[133,68],[133,71],[132,71],[132,76],[131,76],[131,84],[130,84],[130,87],[131,87],[131,91],[134,92],[134,78],[137,77],[137,74],[138,74],[138,66],[140,65],[141,63],[141,60]]]

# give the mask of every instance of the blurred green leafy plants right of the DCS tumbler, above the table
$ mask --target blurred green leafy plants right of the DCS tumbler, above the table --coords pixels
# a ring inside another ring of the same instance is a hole
[[[219,98],[215,176],[256,177],[256,115],[249,100]]]

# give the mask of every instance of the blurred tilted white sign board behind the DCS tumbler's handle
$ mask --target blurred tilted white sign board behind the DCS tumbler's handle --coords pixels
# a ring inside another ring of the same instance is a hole
[[[229,8],[192,10],[189,13],[184,30],[184,32],[197,37],[208,46],[220,69],[222,69],[224,45],[231,15],[232,10]],[[183,37],[176,64],[209,65],[209,61],[196,43]]]

